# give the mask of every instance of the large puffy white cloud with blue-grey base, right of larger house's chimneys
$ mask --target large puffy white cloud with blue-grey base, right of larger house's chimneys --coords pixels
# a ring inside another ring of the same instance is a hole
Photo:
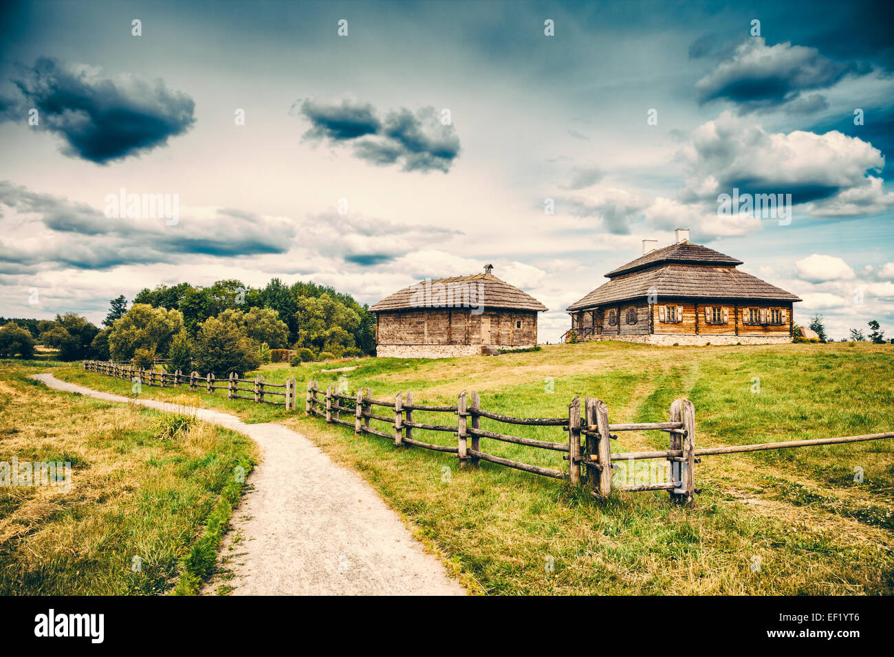
[[[881,170],[881,151],[838,131],[770,133],[724,112],[692,131],[679,156],[688,167],[682,192],[688,202],[716,200],[734,188],[740,193],[790,193],[795,205],[813,202],[816,214],[835,204],[835,212],[861,214],[857,205],[873,206],[867,199],[874,199],[876,206],[890,202],[881,188],[873,192],[878,183],[866,175]],[[848,195],[848,190],[862,193]]]

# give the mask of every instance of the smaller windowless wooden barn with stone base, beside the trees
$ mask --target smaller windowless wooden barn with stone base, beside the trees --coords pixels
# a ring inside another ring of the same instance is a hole
[[[426,279],[369,308],[376,356],[450,358],[537,343],[537,299],[493,275]]]

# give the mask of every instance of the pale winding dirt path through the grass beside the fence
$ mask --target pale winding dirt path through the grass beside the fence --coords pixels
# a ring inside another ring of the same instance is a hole
[[[55,390],[131,401],[50,374],[33,376]],[[162,401],[135,401],[176,410]],[[261,452],[222,551],[232,546],[229,552],[235,552],[226,582],[233,594],[465,594],[373,488],[307,438],[274,423],[249,425],[228,413],[195,411],[202,420],[248,435]],[[238,545],[232,536],[240,537]],[[213,588],[207,585],[203,593],[213,594]]]

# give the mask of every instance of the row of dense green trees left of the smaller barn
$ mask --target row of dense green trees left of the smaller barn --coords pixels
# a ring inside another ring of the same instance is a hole
[[[208,287],[178,283],[144,288],[130,309],[124,295],[112,299],[103,328],[74,313],[48,320],[0,320],[0,357],[31,358],[38,341],[59,358],[169,360],[174,369],[240,375],[276,350],[295,350],[299,360],[375,353],[375,317],[366,305],[314,282],[263,288],[237,280]]]

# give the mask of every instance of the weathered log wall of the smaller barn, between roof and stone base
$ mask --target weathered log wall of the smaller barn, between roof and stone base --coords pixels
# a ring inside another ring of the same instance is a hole
[[[537,343],[533,310],[490,310],[473,315],[468,308],[410,308],[376,313],[377,344],[482,344],[482,319],[490,323],[488,344]],[[521,328],[516,323],[521,322]],[[485,325],[487,322],[485,322]]]

